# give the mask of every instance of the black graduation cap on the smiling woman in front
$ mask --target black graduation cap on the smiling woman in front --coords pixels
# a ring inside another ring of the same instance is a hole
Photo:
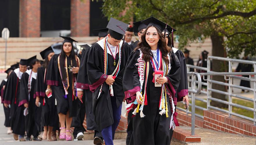
[[[169,28],[171,26],[167,25],[166,23],[156,19],[155,17],[149,17],[143,21],[141,21],[141,23],[147,25],[148,26],[156,26],[158,27],[161,31],[165,30],[165,27],[166,28]]]

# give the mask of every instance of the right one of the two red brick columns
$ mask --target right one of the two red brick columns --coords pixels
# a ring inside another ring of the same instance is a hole
[[[90,0],[71,0],[71,36],[90,35]]]

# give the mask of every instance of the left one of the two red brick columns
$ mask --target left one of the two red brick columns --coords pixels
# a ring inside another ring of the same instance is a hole
[[[40,37],[41,0],[19,1],[19,37]]]

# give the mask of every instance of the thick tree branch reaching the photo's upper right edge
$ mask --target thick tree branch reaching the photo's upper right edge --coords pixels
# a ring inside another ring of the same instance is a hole
[[[179,24],[188,24],[188,23],[192,23],[192,22],[198,21],[198,20],[204,21],[204,20],[208,20],[208,19],[217,19],[217,18],[225,17],[227,15],[235,15],[235,16],[241,16],[241,17],[247,18],[247,17],[251,17],[255,14],[256,14],[256,8],[250,12],[228,11],[228,12],[223,12],[222,14],[217,15],[217,16],[200,17],[200,18],[190,19],[188,21],[183,21],[183,22],[178,22],[178,23]]]

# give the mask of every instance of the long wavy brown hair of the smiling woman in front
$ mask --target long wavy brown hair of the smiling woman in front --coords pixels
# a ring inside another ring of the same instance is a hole
[[[140,49],[141,52],[143,53],[142,58],[144,61],[150,61],[151,57],[153,57],[153,53],[150,51],[151,47],[149,46],[149,44],[146,41],[146,34],[147,34],[147,30],[149,27],[156,28],[157,33],[160,37],[160,39],[158,41],[158,48],[162,52],[162,58],[164,59],[165,63],[167,63],[167,64],[170,63],[170,59],[167,59],[167,54],[172,53],[171,48],[166,45],[165,37],[163,36],[162,31],[156,26],[148,26],[146,28],[146,30],[143,32],[143,34],[141,36],[141,42],[138,43],[138,45],[134,49],[134,51]]]

